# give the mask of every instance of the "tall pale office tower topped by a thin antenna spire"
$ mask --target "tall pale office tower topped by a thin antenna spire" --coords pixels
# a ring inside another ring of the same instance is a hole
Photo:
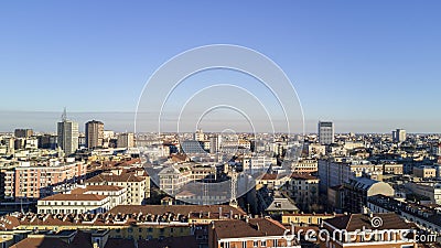
[[[78,123],[67,120],[66,109],[64,109],[62,121],[57,125],[57,142],[65,155],[75,153],[78,149]]]

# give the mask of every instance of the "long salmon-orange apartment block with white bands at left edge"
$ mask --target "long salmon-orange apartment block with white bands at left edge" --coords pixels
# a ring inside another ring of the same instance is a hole
[[[52,161],[44,164],[20,162],[4,172],[6,198],[40,198],[63,191],[68,184],[80,182],[87,165],[73,158],[65,162]]]

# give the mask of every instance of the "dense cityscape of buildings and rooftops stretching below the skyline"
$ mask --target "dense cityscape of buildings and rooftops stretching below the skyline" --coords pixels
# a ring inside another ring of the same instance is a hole
[[[56,132],[17,128],[0,137],[0,241],[438,247],[441,137],[404,129],[334,133],[334,125],[319,121],[318,132],[304,136],[201,129],[135,134],[90,120],[79,132],[65,110]],[[299,155],[288,158],[295,148]],[[248,176],[251,186],[240,185],[244,174],[257,175]],[[220,182],[228,182],[223,191],[206,186]],[[366,239],[357,233],[362,227],[412,236]],[[336,228],[348,233],[332,237]],[[287,230],[299,235],[287,239]],[[321,230],[329,236],[323,239]]]

